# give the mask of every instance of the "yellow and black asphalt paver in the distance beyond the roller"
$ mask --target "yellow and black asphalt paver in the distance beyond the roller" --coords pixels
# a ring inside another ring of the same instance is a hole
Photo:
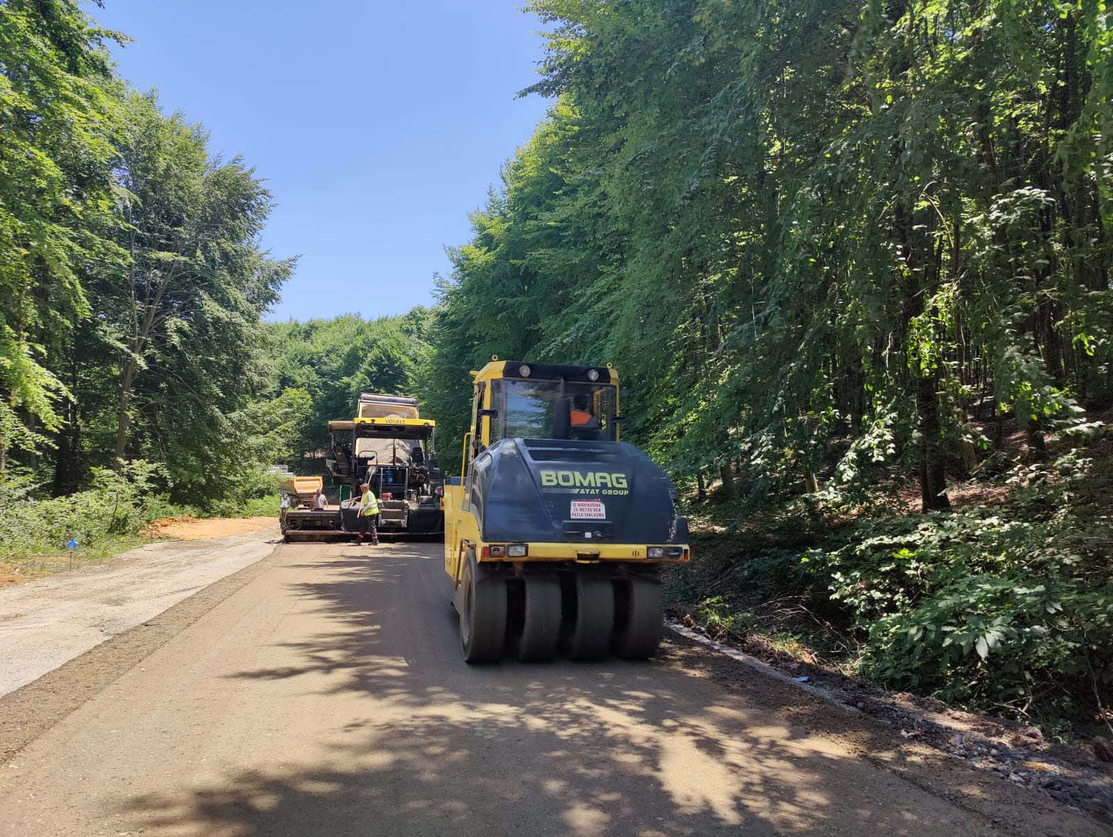
[[[434,454],[436,422],[422,418],[417,400],[361,393],[355,416],[328,422],[325,467],[337,503],[313,510],[303,493],[290,492],[280,512],[286,540],[324,540],[358,532],[358,486],[368,483],[378,498],[382,533],[437,534],[444,528],[441,470]],[[309,481],[316,483],[311,484]],[[312,499],[322,477],[295,477]]]

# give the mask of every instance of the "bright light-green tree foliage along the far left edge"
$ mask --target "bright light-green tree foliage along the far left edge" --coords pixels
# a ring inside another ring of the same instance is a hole
[[[78,265],[110,257],[106,40],[73,0],[0,2],[0,471],[48,444],[66,395],[47,358],[87,316]]]

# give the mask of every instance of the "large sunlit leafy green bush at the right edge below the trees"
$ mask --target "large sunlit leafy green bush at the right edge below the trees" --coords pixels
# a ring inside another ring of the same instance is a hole
[[[868,637],[860,671],[1021,716],[1107,700],[1113,529],[1095,477],[1072,452],[1014,472],[1008,506],[864,522],[809,553]]]

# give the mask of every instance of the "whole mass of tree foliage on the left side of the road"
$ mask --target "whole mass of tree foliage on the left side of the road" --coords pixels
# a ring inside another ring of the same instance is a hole
[[[304,426],[262,323],[293,263],[262,249],[255,173],[115,77],[124,40],[73,0],[0,0],[0,492],[29,471],[41,499],[48,469],[98,491],[126,460],[193,502],[269,490]]]

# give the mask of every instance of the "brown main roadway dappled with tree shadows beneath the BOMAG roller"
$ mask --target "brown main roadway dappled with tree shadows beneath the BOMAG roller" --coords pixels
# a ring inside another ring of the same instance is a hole
[[[436,543],[287,544],[0,700],[0,834],[1101,834],[686,640],[470,667]]]

